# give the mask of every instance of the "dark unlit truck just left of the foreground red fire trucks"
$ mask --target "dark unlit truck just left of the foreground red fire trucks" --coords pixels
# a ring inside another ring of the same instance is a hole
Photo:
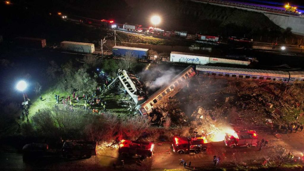
[[[97,142],[95,141],[70,141],[64,142],[62,147],[62,155],[68,159],[75,158],[91,158],[97,155]]]

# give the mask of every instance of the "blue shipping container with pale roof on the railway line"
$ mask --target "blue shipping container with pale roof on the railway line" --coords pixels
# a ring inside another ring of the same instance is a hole
[[[149,49],[124,46],[114,46],[112,52],[114,56],[125,56],[127,53],[131,53],[133,57],[140,59],[145,59],[149,55]]]

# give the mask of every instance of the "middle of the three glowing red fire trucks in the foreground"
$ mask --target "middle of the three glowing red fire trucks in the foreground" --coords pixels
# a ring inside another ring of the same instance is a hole
[[[173,137],[173,151],[178,154],[206,152],[208,142],[205,136]]]

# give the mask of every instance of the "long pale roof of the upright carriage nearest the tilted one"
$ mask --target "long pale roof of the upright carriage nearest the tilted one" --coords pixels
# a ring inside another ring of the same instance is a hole
[[[289,78],[288,72],[268,71],[268,70],[261,70],[261,69],[230,68],[230,67],[196,65],[196,70],[197,71],[209,71],[209,72],[223,72],[223,73],[230,73],[230,74],[259,75],[259,76],[268,76],[268,77]]]

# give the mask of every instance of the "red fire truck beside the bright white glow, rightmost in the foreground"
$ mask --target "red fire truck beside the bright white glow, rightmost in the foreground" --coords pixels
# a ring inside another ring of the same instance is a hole
[[[255,131],[234,131],[232,133],[226,133],[224,141],[225,145],[230,148],[251,148],[252,146],[258,146],[259,143],[257,133]]]

